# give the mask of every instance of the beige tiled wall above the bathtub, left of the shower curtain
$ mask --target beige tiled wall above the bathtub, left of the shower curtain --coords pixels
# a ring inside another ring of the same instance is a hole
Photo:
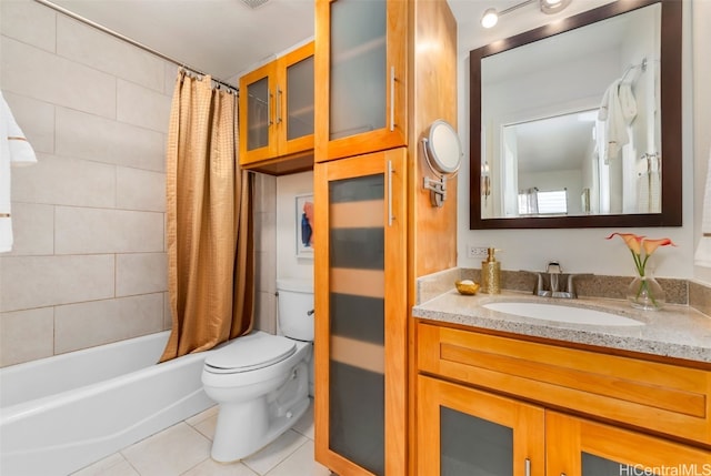
[[[177,67],[36,2],[0,8],[0,88],[39,160],[12,170],[0,365],[169,328],[164,144]]]

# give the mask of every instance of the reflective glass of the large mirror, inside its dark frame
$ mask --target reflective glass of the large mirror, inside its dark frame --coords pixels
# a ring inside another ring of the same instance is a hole
[[[661,212],[661,4],[481,60],[482,219]]]

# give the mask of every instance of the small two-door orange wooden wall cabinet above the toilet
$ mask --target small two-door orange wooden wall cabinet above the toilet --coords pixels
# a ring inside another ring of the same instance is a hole
[[[240,165],[281,174],[313,166],[313,42],[240,78]]]

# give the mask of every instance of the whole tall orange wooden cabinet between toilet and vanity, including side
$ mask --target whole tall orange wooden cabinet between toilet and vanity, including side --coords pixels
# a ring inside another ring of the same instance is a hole
[[[316,456],[343,476],[403,476],[415,280],[457,264],[457,200],[432,207],[421,156],[434,120],[457,126],[457,22],[447,0],[316,12]],[[341,185],[384,196],[341,203]]]

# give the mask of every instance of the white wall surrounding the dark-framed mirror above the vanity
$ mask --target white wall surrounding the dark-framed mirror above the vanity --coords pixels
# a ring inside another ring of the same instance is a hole
[[[601,2],[598,2],[600,4]],[[708,113],[705,122],[702,124],[693,124],[693,94],[703,94],[709,97],[709,85],[705,81],[701,85],[701,70],[697,69],[697,64],[691,60],[691,51],[708,50],[711,44],[710,33],[697,32],[693,39],[691,36],[691,1],[684,1],[684,51],[683,51],[683,226],[681,227],[657,227],[657,229],[573,229],[573,230],[469,230],[469,161],[464,161],[464,166],[459,174],[459,214],[458,214],[458,265],[461,267],[480,267],[480,260],[468,259],[465,250],[468,245],[495,246],[502,249],[500,260],[504,270],[542,270],[550,260],[559,260],[564,270],[570,272],[588,272],[603,275],[632,275],[633,263],[629,256],[629,251],[619,241],[609,242],[604,240],[610,233],[630,232],[649,235],[650,237],[671,237],[677,247],[665,247],[658,252],[654,256],[657,264],[657,274],[664,277],[682,277],[691,278],[694,276],[693,271],[693,252],[694,244],[698,241],[699,232],[694,226],[694,190],[693,173],[694,166],[704,163],[708,156],[694,155],[694,140],[697,149],[707,151],[708,154],[708,133],[692,134],[694,126],[700,128],[699,131],[709,128]],[[697,8],[701,1],[694,1],[693,7]],[[592,3],[573,2],[563,16],[578,13],[592,6]],[[575,8],[578,10],[575,10]],[[705,8],[705,7],[704,7]],[[709,9],[705,8],[708,13]],[[707,17],[707,21],[709,18]],[[472,19],[477,22],[478,19]],[[471,39],[462,40],[460,34],[459,45],[459,132],[464,144],[464,153],[469,155],[469,103],[461,98],[469,98],[469,51],[489,43],[495,39],[508,38],[518,32],[527,31],[551,21],[547,16],[535,11],[531,6],[530,10],[520,9],[517,14],[505,16],[501,19],[501,29],[480,36],[475,41]],[[469,31],[475,28],[471,26],[459,26],[460,31]],[[497,28],[492,30],[497,30]],[[703,37],[703,38],[702,38]],[[478,43],[477,43],[478,41]],[[685,74],[692,71],[693,74]],[[692,81],[693,79],[693,81]],[[692,83],[695,90],[692,94]],[[708,101],[707,101],[708,104]],[[707,108],[708,109],[708,108]],[[698,115],[699,117],[699,115]],[[698,144],[707,141],[705,148]],[[705,171],[705,166],[703,168]],[[700,203],[700,202],[699,202]]]

